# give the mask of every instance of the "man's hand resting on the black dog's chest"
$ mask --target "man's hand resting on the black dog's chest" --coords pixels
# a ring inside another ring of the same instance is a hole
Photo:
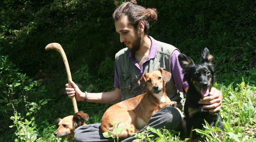
[[[222,99],[223,99],[221,91],[212,87],[209,94],[210,94],[210,96],[201,98],[198,101],[198,103],[199,104],[207,104],[207,105],[203,105],[203,108],[210,109],[209,112],[219,111],[220,108],[222,107]]]

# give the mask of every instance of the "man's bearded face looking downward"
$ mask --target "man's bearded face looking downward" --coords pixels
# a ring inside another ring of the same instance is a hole
[[[124,42],[129,52],[135,52],[140,49],[142,43],[141,33],[136,31],[132,25],[129,25],[126,15],[115,21],[115,27],[116,32],[120,34],[120,42]]]

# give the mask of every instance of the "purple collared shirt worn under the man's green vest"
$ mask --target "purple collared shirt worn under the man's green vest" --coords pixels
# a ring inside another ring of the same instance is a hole
[[[151,40],[151,48],[149,51],[149,55],[147,57],[147,59],[143,62],[142,67],[140,69],[140,66],[138,64],[138,62],[135,59],[134,53],[128,52],[127,56],[130,57],[130,59],[132,60],[132,63],[136,66],[136,69],[138,71],[138,74],[141,78],[141,76],[143,75],[143,72],[145,70],[145,67],[147,65],[147,62],[156,57],[156,53],[157,53],[157,43],[156,40],[153,39],[151,36],[148,36]],[[178,55],[180,54],[179,50],[174,50],[172,52],[171,58],[170,58],[170,64],[171,64],[171,70],[172,70],[172,78],[174,80],[174,83],[177,87],[177,89],[180,92],[184,93],[184,89],[188,86],[187,82],[183,82],[183,78],[184,75],[182,74],[182,68],[180,67],[180,63],[178,60]],[[117,71],[117,66],[116,66],[116,61],[115,61],[115,80],[114,80],[114,86],[116,88],[120,89],[120,84],[119,84],[119,76],[118,76],[118,71]]]

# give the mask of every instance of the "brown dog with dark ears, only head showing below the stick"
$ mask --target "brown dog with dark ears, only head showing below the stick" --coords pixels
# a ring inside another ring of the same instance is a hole
[[[74,138],[74,131],[77,127],[86,125],[85,120],[88,121],[88,114],[79,111],[73,116],[67,116],[63,119],[57,119],[57,126],[59,127],[53,134],[56,137],[67,137],[69,142]]]

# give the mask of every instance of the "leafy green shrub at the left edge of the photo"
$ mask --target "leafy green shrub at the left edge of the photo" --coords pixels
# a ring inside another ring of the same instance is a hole
[[[1,117],[5,124],[13,123],[9,127],[16,129],[14,141],[35,141],[39,135],[35,123],[38,111],[51,100],[42,98],[47,91],[45,86],[19,71],[8,56],[0,57]]]

